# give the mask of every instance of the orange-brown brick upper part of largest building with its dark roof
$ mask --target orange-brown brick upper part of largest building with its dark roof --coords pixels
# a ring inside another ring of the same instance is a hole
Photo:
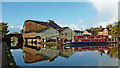
[[[55,29],[61,28],[54,21],[48,20],[47,22],[26,20],[23,26],[24,33],[30,33],[32,31],[40,30],[46,28],[47,26],[53,27]]]

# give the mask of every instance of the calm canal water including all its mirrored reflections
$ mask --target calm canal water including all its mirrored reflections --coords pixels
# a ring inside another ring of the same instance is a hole
[[[118,66],[119,44],[89,46],[49,46],[23,44],[11,49],[19,66]]]

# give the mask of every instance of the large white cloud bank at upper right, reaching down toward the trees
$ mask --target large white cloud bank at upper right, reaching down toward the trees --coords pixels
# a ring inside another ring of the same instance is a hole
[[[97,17],[94,21],[95,24],[104,26],[105,24],[118,21],[119,0],[89,0],[89,2],[93,8],[97,10]]]

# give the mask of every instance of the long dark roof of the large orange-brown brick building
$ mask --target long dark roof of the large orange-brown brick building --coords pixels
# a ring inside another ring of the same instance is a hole
[[[38,24],[41,24],[41,25],[44,25],[44,26],[51,26],[54,29],[60,29],[61,28],[59,25],[57,25],[52,20],[48,20],[49,22],[42,22],[42,21],[35,21],[35,20],[26,20],[25,22],[28,22],[28,21],[32,21],[32,22],[35,22],[35,23],[38,23]]]

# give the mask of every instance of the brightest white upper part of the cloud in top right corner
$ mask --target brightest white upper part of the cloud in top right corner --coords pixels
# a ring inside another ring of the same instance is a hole
[[[98,13],[114,15],[118,12],[119,0],[89,0]]]

